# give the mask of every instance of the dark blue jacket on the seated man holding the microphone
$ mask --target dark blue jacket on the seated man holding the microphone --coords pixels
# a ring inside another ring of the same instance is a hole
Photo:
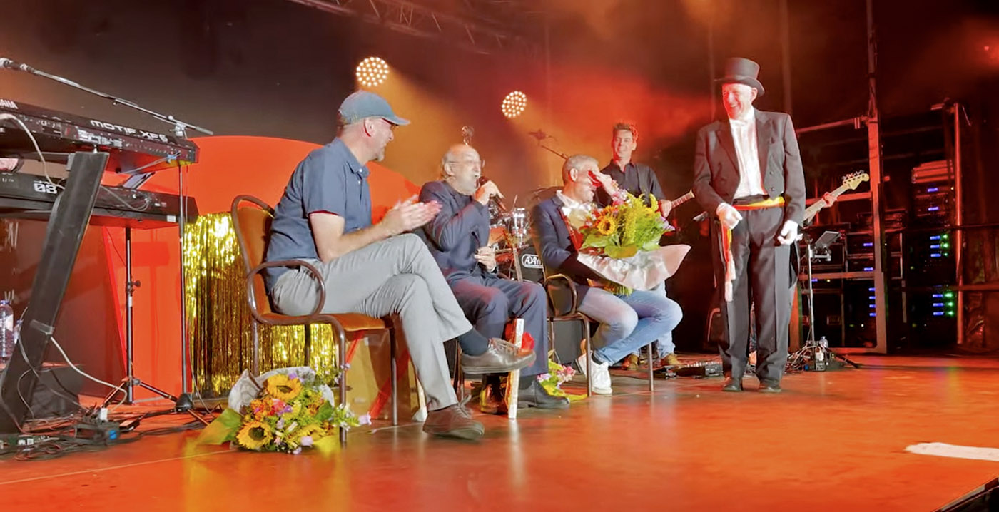
[[[424,185],[420,201],[441,204],[441,213],[416,233],[427,244],[448,282],[487,273],[475,256],[479,248],[490,243],[489,209],[446,182]]]

